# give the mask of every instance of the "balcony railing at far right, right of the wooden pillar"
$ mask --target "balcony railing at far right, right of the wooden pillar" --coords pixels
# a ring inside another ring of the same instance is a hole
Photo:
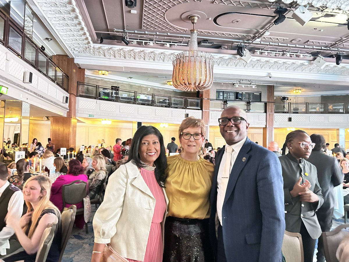
[[[349,102],[274,103],[275,113],[291,114],[349,114]]]

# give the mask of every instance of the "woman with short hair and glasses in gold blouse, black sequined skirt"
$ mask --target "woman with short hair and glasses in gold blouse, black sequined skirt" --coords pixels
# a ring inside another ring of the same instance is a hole
[[[202,119],[187,117],[178,130],[183,151],[167,158],[164,262],[214,261],[208,233],[214,165],[199,157],[205,135]]]

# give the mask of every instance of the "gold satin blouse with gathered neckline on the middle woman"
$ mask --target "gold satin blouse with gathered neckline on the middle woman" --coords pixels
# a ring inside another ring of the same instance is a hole
[[[210,216],[210,190],[214,165],[200,158],[188,161],[180,154],[167,158],[168,216],[204,219]]]

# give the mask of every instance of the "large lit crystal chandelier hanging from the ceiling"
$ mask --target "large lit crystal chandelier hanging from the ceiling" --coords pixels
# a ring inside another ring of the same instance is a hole
[[[189,51],[176,54],[172,61],[173,86],[182,91],[202,91],[210,89],[213,83],[213,56],[198,51],[198,31],[194,29],[199,16],[189,17],[193,24],[190,30]]]

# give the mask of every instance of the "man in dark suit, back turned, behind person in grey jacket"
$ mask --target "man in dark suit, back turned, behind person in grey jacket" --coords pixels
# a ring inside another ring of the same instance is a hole
[[[335,203],[333,188],[342,183],[344,175],[339,168],[337,160],[323,153],[325,138],[321,136],[321,134],[312,134],[310,139],[312,143],[315,143],[315,146],[307,161],[312,163],[317,169],[318,181],[322,196],[324,197],[324,204],[318,209],[316,216],[318,217],[321,231],[328,232],[332,226],[332,215]],[[322,237],[318,240],[317,261],[325,261]]]

